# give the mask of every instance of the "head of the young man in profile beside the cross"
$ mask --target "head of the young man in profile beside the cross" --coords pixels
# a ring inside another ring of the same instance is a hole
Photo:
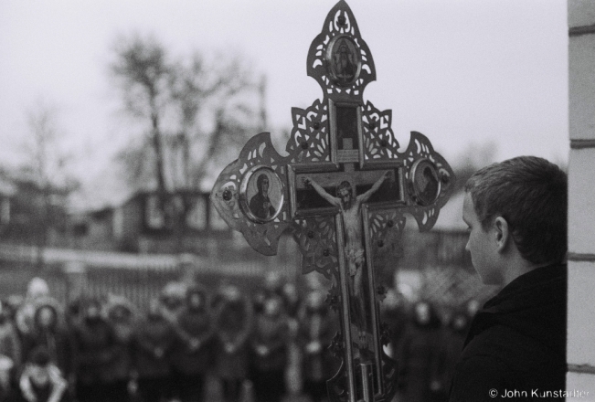
[[[567,251],[568,179],[556,164],[520,156],[477,171],[465,185],[467,249],[484,283],[501,284],[501,259],[516,250],[527,266]]]

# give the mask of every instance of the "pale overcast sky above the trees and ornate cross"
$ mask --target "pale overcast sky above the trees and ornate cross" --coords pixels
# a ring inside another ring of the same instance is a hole
[[[364,99],[393,130],[426,134],[447,159],[493,143],[495,159],[568,158],[566,0],[351,0],[377,81]],[[119,35],[153,34],[184,56],[234,51],[268,77],[271,132],[322,91],[306,55],[334,0],[2,0],[0,150],[27,133],[37,100],[58,109],[69,146],[101,174],[127,127],[108,74]]]

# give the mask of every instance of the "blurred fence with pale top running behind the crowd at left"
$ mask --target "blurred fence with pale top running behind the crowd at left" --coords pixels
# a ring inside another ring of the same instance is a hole
[[[39,268],[39,261],[43,261]],[[172,281],[201,280],[210,289],[223,277],[256,286],[265,267],[259,260],[220,264],[193,255],[130,254],[0,245],[0,299],[25,295],[34,277],[48,282],[53,297],[69,302],[80,295],[123,296],[139,308]]]

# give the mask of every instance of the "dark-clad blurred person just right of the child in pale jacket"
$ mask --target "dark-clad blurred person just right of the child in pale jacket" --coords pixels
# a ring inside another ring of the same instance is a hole
[[[101,316],[97,299],[85,302],[72,329],[76,395],[80,402],[112,402],[112,362],[119,353],[112,325]]]

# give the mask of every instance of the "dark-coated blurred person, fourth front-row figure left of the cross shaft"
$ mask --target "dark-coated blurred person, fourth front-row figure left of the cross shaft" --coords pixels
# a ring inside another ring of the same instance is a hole
[[[205,379],[213,361],[214,325],[207,291],[198,284],[186,291],[186,306],[175,330],[178,342],[172,353],[176,391],[182,402],[203,400]]]

